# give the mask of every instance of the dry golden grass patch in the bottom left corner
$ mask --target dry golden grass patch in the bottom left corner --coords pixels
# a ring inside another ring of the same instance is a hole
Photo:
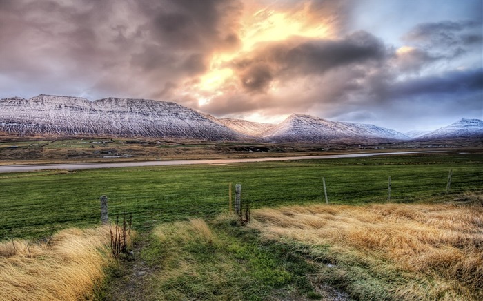
[[[109,228],[66,229],[49,242],[0,244],[0,300],[88,298],[110,256]]]

